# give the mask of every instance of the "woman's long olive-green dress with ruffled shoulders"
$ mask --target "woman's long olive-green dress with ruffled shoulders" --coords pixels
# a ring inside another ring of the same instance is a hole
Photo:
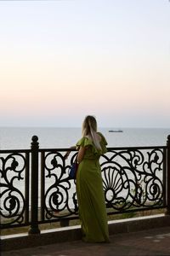
[[[97,149],[88,137],[82,137],[77,143],[88,148],[77,170],[77,199],[79,218],[82,226],[82,240],[88,242],[110,242],[107,215],[105,209],[105,195],[99,165],[99,157],[107,152],[105,137],[98,133],[102,140]]]

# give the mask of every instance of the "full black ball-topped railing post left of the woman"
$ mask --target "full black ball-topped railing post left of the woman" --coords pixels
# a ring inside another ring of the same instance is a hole
[[[31,228],[29,235],[39,234],[38,228],[38,137],[33,136],[31,142]]]

